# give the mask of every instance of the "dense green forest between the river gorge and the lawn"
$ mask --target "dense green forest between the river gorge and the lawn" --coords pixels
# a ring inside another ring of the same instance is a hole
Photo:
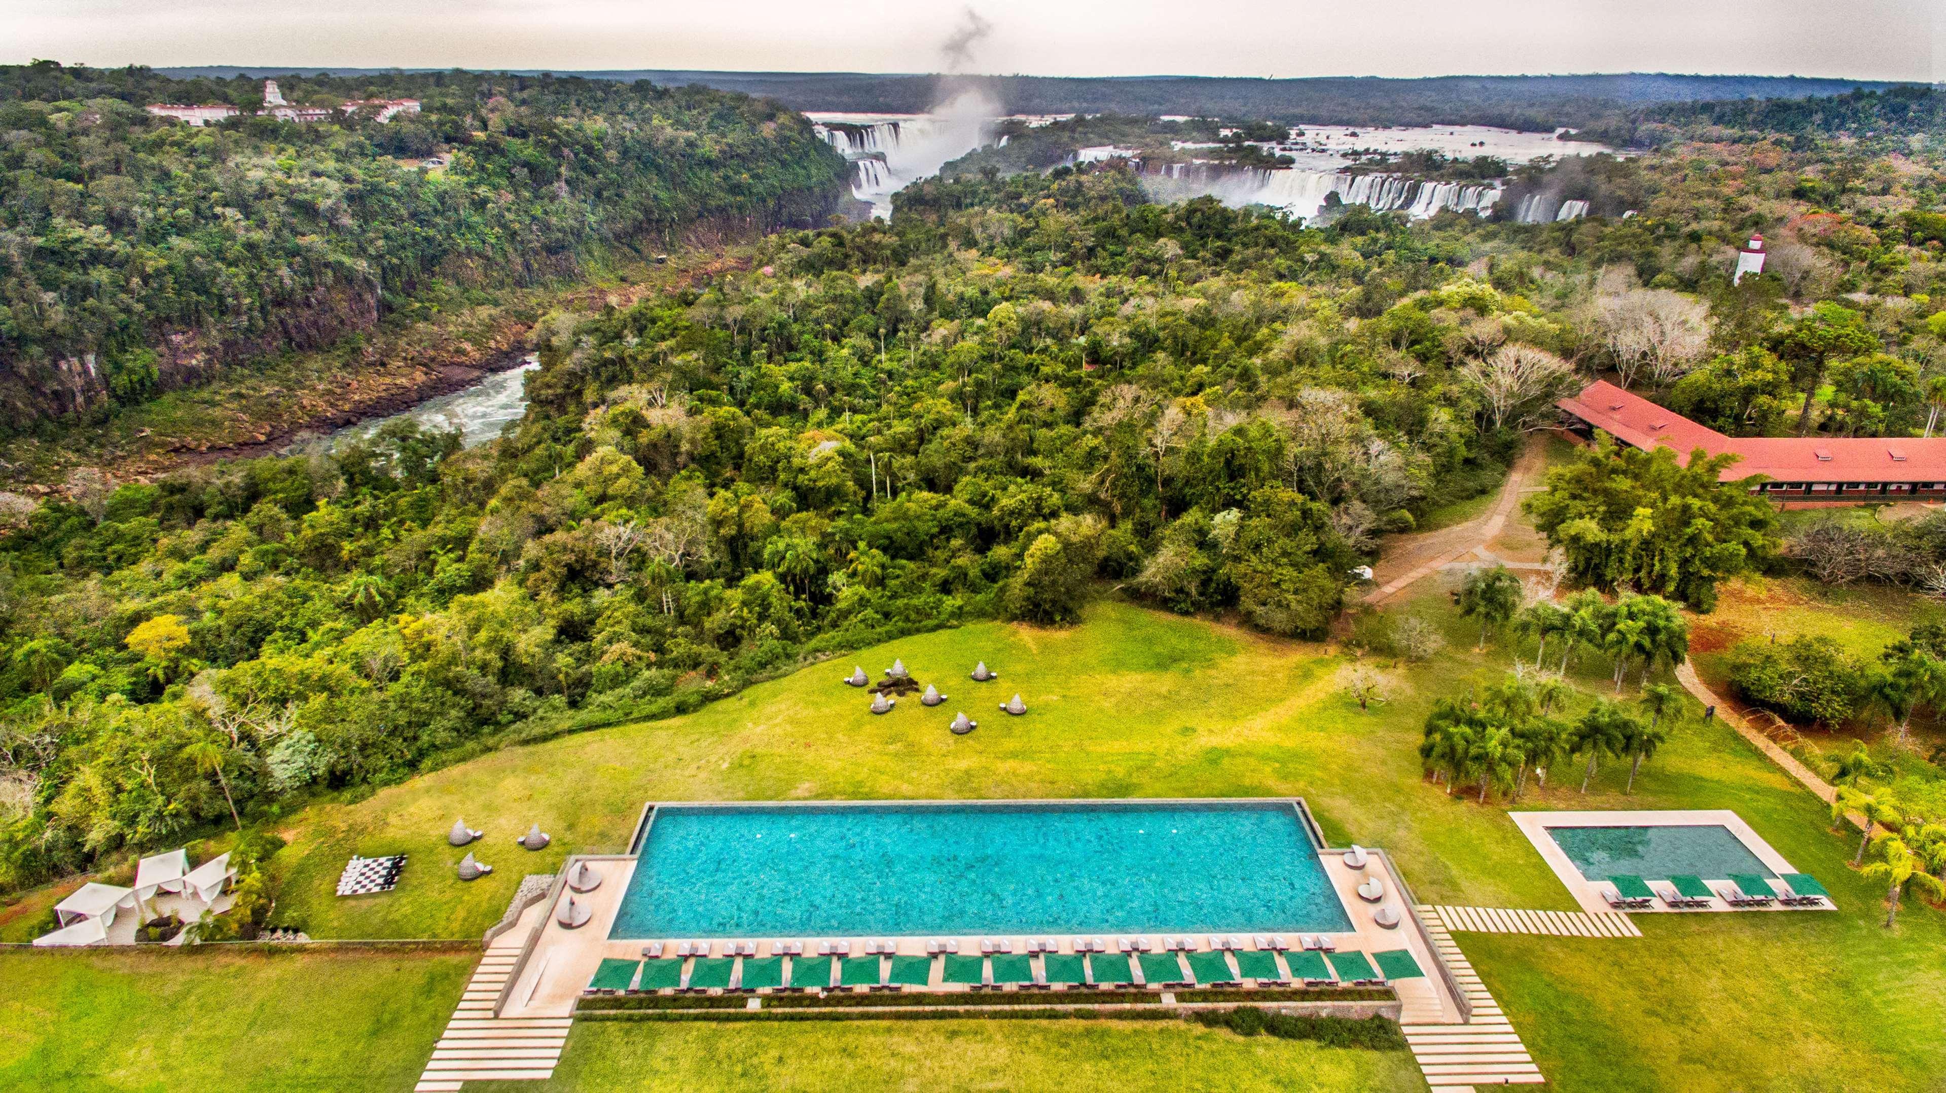
[[[1605,163],[1637,216],[1310,228],[1117,165],[920,183],[889,226],[549,317],[496,445],[407,426],[8,498],[0,887],[899,632],[1063,622],[1103,582],[1315,636],[1378,535],[1496,482],[1590,371],[1738,426],[1783,383],[1806,428],[1921,428],[1928,387],[1886,377],[1946,371],[1936,156]],[[1753,228],[1775,268],[1732,286]]]

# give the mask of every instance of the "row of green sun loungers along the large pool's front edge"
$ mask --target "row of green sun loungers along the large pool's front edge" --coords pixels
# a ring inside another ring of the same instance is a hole
[[[1232,963],[1234,961],[1234,963]],[[1376,965],[1374,965],[1376,961]],[[689,972],[683,972],[683,965]],[[1189,953],[1039,953],[1039,955],[792,955],[784,957],[652,957],[648,961],[603,959],[586,994],[675,992],[806,992],[806,990],[897,990],[940,982],[973,990],[1063,988],[1222,988],[1242,986],[1378,986],[1424,972],[1405,949],[1387,953],[1331,953],[1317,949],[1212,949]],[[1035,967],[1039,965],[1039,967]],[[1288,970],[1286,970],[1288,969]],[[1140,976],[1136,976],[1140,970]]]

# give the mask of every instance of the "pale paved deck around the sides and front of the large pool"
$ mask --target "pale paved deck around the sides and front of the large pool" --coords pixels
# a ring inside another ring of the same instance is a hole
[[[1407,895],[1399,891],[1395,873],[1391,871],[1387,860],[1378,852],[1368,852],[1370,860],[1364,869],[1352,869],[1343,862],[1343,850],[1321,850],[1319,860],[1325,875],[1331,877],[1331,885],[1345,906],[1347,916],[1352,922],[1352,932],[1327,934],[1335,945],[1345,949],[1360,949],[1364,953],[1378,953],[1389,949],[1407,949],[1419,967],[1424,970],[1423,978],[1403,978],[1393,980],[1391,988],[1399,996],[1399,1005],[1407,1021],[1413,1023],[1460,1023],[1463,1021],[1463,1009],[1456,998],[1448,978],[1442,974],[1442,957],[1428,941],[1428,935],[1421,930],[1417,912]],[[642,959],[642,949],[656,941],[646,937],[609,937],[609,930],[615,924],[615,916],[621,910],[623,897],[629,889],[629,879],[634,875],[634,858],[627,856],[594,856],[594,858],[572,858],[572,862],[588,862],[588,867],[601,877],[601,885],[586,895],[574,895],[574,899],[592,912],[586,926],[578,930],[566,930],[557,922],[560,906],[566,902],[568,895],[564,887],[557,885],[557,893],[547,900],[547,920],[539,932],[533,935],[533,943],[527,949],[520,972],[508,988],[498,1015],[500,1017],[570,1017],[574,1013],[576,1000],[582,998],[582,990],[594,976],[595,969],[603,959]],[[1368,877],[1378,877],[1386,891],[1380,902],[1366,902],[1358,897],[1358,885]],[[1380,906],[1391,906],[1399,912],[1401,924],[1397,928],[1378,926],[1374,912]],[[1228,935],[1228,934],[1226,934]],[[1076,935],[1061,934],[1055,935],[1061,941],[1063,951],[1072,951]],[[1090,935],[1094,939],[1096,935]],[[1107,947],[1117,949],[1117,941],[1123,937],[1136,937],[1135,934],[1101,934],[1099,935]],[[1144,934],[1152,945],[1160,947],[1162,935],[1156,932]],[[1243,947],[1253,947],[1251,934],[1240,934]],[[1026,953],[1027,935],[926,935],[926,937],[683,937],[681,941],[708,941],[710,953],[724,955],[726,941],[747,941],[755,943],[757,955],[769,957],[773,941],[802,943],[806,955],[817,955],[819,945],[847,941],[850,943],[852,955],[866,955],[864,945],[868,939],[885,939],[897,945],[897,955],[924,957],[928,941],[957,941],[961,955],[979,955],[981,943],[1006,941],[1012,945],[1014,953]],[[1300,947],[1298,935],[1284,932],[1284,939],[1292,949]],[[662,939],[667,953],[675,951],[679,939]],[[1197,947],[1208,947],[1208,935],[1195,935]],[[934,965],[934,980],[940,976],[938,963]],[[952,992],[967,990],[957,984],[932,982],[928,990]]]

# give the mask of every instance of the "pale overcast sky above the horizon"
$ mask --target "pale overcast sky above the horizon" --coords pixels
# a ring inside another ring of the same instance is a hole
[[[969,70],[1946,80],[1946,0],[977,0]],[[932,72],[963,2],[0,0],[0,58]]]

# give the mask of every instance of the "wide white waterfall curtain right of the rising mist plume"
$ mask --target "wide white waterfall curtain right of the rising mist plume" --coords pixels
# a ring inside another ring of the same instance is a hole
[[[1166,173],[1144,177],[1142,185],[1160,200],[1212,194],[1232,208],[1267,204],[1306,220],[1315,218],[1331,194],[1345,204],[1405,212],[1415,220],[1444,210],[1485,214],[1500,200],[1500,187],[1489,183],[1424,183],[1405,175],[1341,171],[1234,171],[1197,163],[1171,163]]]

